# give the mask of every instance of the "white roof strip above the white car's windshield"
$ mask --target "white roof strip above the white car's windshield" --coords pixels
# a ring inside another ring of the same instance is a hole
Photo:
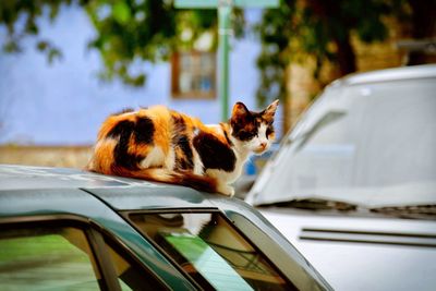
[[[436,64],[391,68],[364,73],[353,73],[331,83],[331,86],[360,85],[388,81],[436,77]]]

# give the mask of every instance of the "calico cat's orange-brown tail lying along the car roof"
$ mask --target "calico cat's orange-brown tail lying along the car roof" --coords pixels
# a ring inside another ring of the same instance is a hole
[[[215,178],[194,174],[187,171],[178,172],[162,168],[129,170],[119,167],[113,167],[111,170],[112,174],[125,178],[184,185],[204,192],[217,192],[217,180]]]

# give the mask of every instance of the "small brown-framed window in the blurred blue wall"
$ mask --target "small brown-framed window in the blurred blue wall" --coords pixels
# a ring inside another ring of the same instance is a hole
[[[216,53],[175,52],[171,58],[173,98],[211,99],[216,95]]]

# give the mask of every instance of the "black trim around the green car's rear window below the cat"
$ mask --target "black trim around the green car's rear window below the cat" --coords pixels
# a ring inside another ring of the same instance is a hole
[[[264,247],[261,247],[259,245],[257,245],[249,235],[246,235],[246,233],[244,233],[243,230],[241,230],[235,223],[234,221],[232,221],[231,219],[229,219],[229,217],[222,213],[221,210],[219,210],[218,208],[157,208],[157,209],[138,209],[138,210],[121,210],[119,211],[119,214],[138,232],[141,233],[141,235],[144,237],[144,239],[146,239],[154,247],[156,247],[156,250],[158,250],[159,253],[161,253],[169,262],[171,262],[171,264],[181,272],[185,276],[186,279],[189,279],[195,287],[197,287],[199,290],[203,290],[205,287],[202,286],[197,279],[193,278],[191,275],[189,275],[183,268],[182,266],[175,262],[175,259],[167,253],[167,251],[164,250],[162,246],[160,246],[154,239],[149,238],[149,235],[147,233],[145,233],[145,231],[143,231],[131,218],[131,216],[135,216],[135,215],[166,215],[166,214],[217,214],[219,215],[220,218],[222,218],[226,223],[228,226],[231,227],[232,230],[234,230],[246,243],[249,243],[257,254],[259,254],[259,256],[262,258],[264,258],[269,266],[274,269],[274,271],[277,272],[277,275],[279,275],[279,277],[281,279],[284,280],[287,286],[293,287],[296,290],[296,287],[294,284],[294,282],[292,282],[292,280],[286,275],[286,272],[282,271],[282,269],[280,269],[280,267],[278,266],[278,264],[274,260],[271,260],[266,253],[264,252]],[[243,219],[247,219],[244,216],[241,216],[241,218]],[[249,221],[247,221],[249,223]],[[262,232],[261,229],[258,229],[258,232]],[[266,245],[271,246],[271,243],[266,243]],[[206,279],[204,279],[205,281],[207,281]],[[209,288],[207,288],[207,284],[209,284]],[[206,284],[206,289],[207,290],[215,290],[214,287],[210,284],[210,282],[207,282]]]

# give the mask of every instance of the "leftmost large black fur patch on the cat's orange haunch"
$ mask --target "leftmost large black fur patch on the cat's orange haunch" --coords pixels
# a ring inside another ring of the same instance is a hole
[[[143,156],[129,154],[128,150],[130,137],[132,136],[134,129],[134,122],[123,120],[120,121],[116,126],[113,126],[113,129],[108,133],[108,137],[120,138],[113,149],[113,158],[116,160],[116,165],[131,170],[137,170],[138,162],[144,159]]]

